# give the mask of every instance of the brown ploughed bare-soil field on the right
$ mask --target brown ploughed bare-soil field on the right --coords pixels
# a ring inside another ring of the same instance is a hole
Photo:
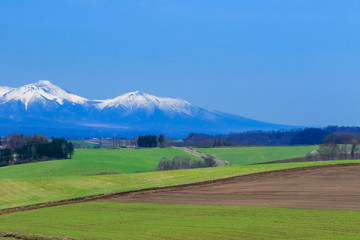
[[[106,201],[360,210],[360,165],[253,174],[199,186],[132,193]]]

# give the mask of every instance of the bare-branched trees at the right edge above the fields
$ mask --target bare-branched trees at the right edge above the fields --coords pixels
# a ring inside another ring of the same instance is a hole
[[[312,161],[360,158],[360,136],[354,133],[333,133],[324,138],[318,151],[308,155]]]

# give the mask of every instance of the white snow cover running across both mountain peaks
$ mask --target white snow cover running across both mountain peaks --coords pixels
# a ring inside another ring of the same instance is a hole
[[[89,106],[94,106],[100,111],[117,108],[119,110],[125,110],[127,113],[136,110],[151,113],[155,109],[159,109],[165,113],[191,115],[193,111],[197,109],[196,106],[182,99],[156,97],[139,91],[125,93],[113,99],[91,101],[70,94],[60,87],[51,84],[49,81],[38,81],[37,83],[24,85],[19,88],[1,87],[0,103],[4,104],[11,101],[22,102],[25,105],[25,109],[27,109],[31,103],[40,102],[46,104],[48,101],[60,105],[63,105],[65,101],[72,104],[88,103]]]

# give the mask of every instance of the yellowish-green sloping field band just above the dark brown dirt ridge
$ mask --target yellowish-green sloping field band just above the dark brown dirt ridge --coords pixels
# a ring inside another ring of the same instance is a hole
[[[349,163],[360,163],[360,160],[276,163],[100,176],[3,179],[0,185],[0,209],[176,186],[267,171]]]

